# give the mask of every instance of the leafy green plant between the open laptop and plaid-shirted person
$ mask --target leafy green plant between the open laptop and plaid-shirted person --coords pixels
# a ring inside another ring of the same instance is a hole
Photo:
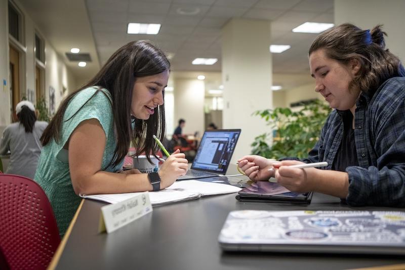
[[[251,144],[252,155],[279,159],[283,157],[305,158],[319,139],[323,123],[331,108],[320,100],[303,104],[293,111],[290,108],[258,110],[254,115],[263,118],[273,132],[273,143],[269,145],[270,133],[257,136]]]

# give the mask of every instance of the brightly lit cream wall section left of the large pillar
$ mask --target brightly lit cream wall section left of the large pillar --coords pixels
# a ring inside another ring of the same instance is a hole
[[[183,134],[204,132],[204,81],[175,79],[174,81],[174,124],[183,118],[186,121]]]

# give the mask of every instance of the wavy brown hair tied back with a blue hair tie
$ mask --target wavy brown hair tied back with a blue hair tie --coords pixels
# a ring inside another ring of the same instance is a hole
[[[360,70],[349,89],[373,92],[389,78],[405,76],[399,58],[385,49],[387,34],[381,28],[382,25],[377,25],[372,30],[362,30],[350,23],[335,26],[316,37],[308,55],[323,49],[327,57],[343,64],[356,59]]]

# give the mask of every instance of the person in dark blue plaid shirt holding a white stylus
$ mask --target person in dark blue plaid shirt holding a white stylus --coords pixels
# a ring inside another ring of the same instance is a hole
[[[273,176],[291,191],[317,191],[351,206],[405,206],[405,70],[385,49],[384,34],[381,25],[362,30],[346,23],[315,39],[309,49],[315,91],[334,110],[308,158],[239,159],[250,179]],[[329,165],[288,166],[322,161]]]

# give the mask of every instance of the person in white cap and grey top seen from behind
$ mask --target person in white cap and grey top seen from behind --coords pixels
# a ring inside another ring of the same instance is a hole
[[[5,173],[34,178],[39,155],[41,155],[41,136],[48,126],[47,122],[36,121],[34,105],[21,101],[16,106],[18,122],[8,126],[0,142],[0,155],[10,151],[10,162]]]

